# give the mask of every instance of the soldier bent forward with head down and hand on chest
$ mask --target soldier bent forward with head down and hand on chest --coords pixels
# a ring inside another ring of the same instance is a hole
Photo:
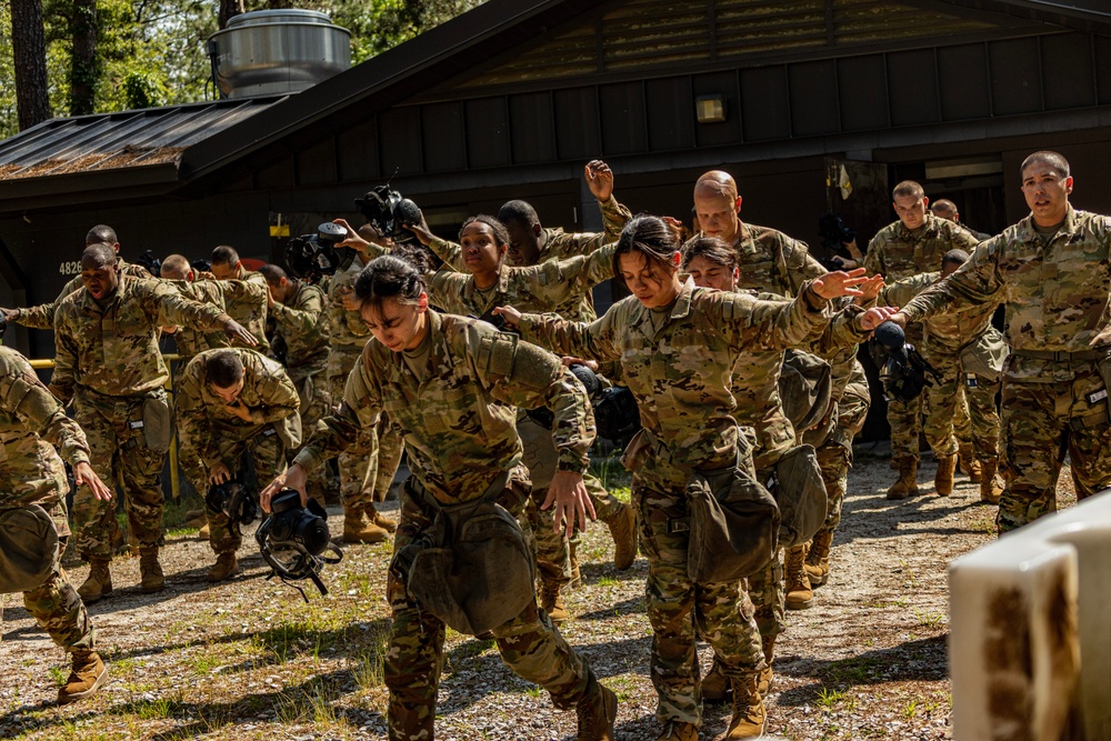
[[[241,477],[247,451],[258,480],[271,481],[286,470],[287,452],[301,442],[297,388],[278,361],[253,350],[206,350],[193,358],[181,375],[176,405],[178,434],[200,454],[209,484]],[[208,580],[223,581],[239,573],[236,551],[242,537],[218,502],[206,504],[217,555]]]

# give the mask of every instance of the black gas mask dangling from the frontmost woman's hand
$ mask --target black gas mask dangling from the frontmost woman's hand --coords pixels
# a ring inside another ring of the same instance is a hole
[[[262,558],[273,569],[268,579],[278,577],[291,584],[306,602],[309,598],[304,590],[291,582],[309,579],[321,594],[327,594],[320,572],[326,563],[339,563],[343,558],[342,551],[331,541],[327,519],[328,512],[314,500],[301,507],[301,494],[284,489],[270,500],[270,517],[254,533]]]

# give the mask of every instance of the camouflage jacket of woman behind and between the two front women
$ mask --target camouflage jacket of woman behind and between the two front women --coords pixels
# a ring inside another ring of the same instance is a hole
[[[462,251],[451,242],[449,251],[437,252],[448,264],[457,257],[450,250]],[[437,242],[433,241],[433,251]],[[511,306],[521,311],[558,311],[569,300],[590,290],[603,280],[613,278],[613,252],[617,243],[607,244],[589,256],[569,260],[550,260],[528,268],[502,266],[493,291],[483,293],[474,286],[474,278],[447,267],[426,276],[428,299],[447,313],[487,316],[494,307]],[[461,258],[458,258],[461,260]]]

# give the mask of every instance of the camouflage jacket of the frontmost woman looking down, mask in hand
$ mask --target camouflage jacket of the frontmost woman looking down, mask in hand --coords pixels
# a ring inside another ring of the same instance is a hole
[[[521,462],[517,407],[547,405],[559,469],[587,470],[594,417],[585,389],[560,359],[490,324],[426,313],[431,342],[418,379],[401,353],[371,340],[348,377],[343,403],[318,423],[296,462],[310,472],[354,443],[386,411],[404,431],[417,480],[444,504],[481,495]]]

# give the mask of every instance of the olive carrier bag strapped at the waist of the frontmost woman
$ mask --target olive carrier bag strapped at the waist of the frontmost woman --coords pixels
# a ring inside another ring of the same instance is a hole
[[[481,497],[443,504],[409,477],[406,492],[436,514],[390,561],[417,605],[460,633],[477,635],[517,618],[536,599],[536,563],[517,518],[498,503],[502,471]]]

